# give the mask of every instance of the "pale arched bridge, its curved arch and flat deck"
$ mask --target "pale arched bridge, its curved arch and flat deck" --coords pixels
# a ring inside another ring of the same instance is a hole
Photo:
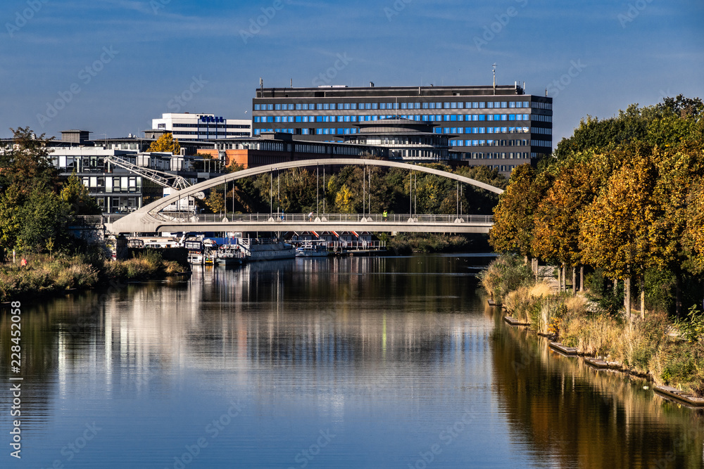
[[[329,230],[363,230],[368,231],[414,231],[414,232],[439,232],[439,233],[488,233],[491,228],[491,217],[480,215],[408,215],[400,217],[389,216],[390,219],[376,219],[369,215],[343,215],[332,220],[326,217],[309,220],[306,217],[290,217],[291,219],[274,219],[270,214],[236,215],[237,219],[227,219],[218,215],[190,217],[189,219],[171,217],[168,212],[161,212],[163,209],[177,203],[178,200],[188,198],[207,189],[222,186],[238,179],[244,179],[257,174],[264,174],[280,169],[291,169],[298,167],[313,166],[381,166],[408,169],[410,171],[425,172],[454,179],[464,184],[482,188],[497,194],[503,193],[503,189],[485,184],[475,179],[470,179],[459,174],[433,169],[429,167],[411,165],[385,160],[364,160],[358,158],[325,158],[319,160],[301,160],[281,162],[275,165],[258,166],[242,171],[223,174],[215,179],[208,179],[194,186],[189,186],[176,191],[171,195],[154,201],[149,205],[144,205],[112,224],[106,225],[106,230],[110,233],[156,233],[158,231],[329,231]],[[334,216],[330,216],[334,217]],[[427,217],[431,217],[427,219]],[[296,219],[297,218],[297,219]],[[378,217],[377,217],[378,218]],[[377,223],[378,221],[378,223]],[[370,226],[369,223],[375,226]]]

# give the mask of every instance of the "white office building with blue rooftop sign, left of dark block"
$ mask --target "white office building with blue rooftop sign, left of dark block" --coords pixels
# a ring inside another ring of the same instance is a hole
[[[251,121],[214,114],[168,113],[151,120],[152,129],[168,131],[179,140],[213,140],[251,136]]]

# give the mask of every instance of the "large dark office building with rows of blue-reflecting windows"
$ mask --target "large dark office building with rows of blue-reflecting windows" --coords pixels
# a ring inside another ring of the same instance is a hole
[[[553,100],[513,86],[319,86],[260,88],[252,134],[344,141],[360,123],[401,117],[449,136],[448,162],[510,172],[552,151]]]

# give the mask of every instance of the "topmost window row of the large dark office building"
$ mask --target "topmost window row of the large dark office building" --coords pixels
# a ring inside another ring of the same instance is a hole
[[[553,108],[539,101],[444,101],[403,103],[270,103],[255,104],[254,110],[357,110],[357,109],[513,109]]]

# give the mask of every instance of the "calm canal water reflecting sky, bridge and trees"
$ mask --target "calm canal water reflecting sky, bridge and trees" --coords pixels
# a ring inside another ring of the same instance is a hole
[[[486,262],[291,259],[24,303],[21,460],[6,306],[0,467],[702,467],[700,413],[506,326]]]

